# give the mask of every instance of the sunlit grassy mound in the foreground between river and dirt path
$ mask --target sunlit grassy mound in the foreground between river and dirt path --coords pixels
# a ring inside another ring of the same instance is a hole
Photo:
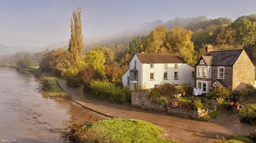
[[[79,143],[177,143],[158,137],[164,129],[135,119],[107,119],[81,127],[83,133],[73,132]],[[80,130],[81,131],[81,130]]]

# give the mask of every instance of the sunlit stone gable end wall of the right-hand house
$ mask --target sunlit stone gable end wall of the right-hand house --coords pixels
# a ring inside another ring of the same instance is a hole
[[[255,67],[245,51],[243,51],[233,65],[232,90],[241,90],[246,87],[246,84],[254,85],[254,79]]]

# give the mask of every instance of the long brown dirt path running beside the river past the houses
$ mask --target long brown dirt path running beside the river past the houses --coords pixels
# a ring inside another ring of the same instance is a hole
[[[151,112],[131,107],[131,105],[116,105],[84,95],[82,87],[73,88],[66,84],[63,79],[58,79],[61,87],[72,95],[72,99],[80,104],[103,112],[107,115],[119,118],[134,118],[154,123],[166,129],[162,137],[176,140],[180,143],[212,143],[216,134],[231,137],[236,134],[249,135],[256,129],[239,122],[238,112],[231,112],[233,118],[228,118],[222,112],[216,120],[200,122],[184,118],[178,118],[164,113]],[[224,118],[223,118],[224,117]]]

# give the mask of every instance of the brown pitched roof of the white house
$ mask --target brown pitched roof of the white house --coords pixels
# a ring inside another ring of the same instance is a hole
[[[179,54],[164,53],[135,53],[141,63],[186,63]]]

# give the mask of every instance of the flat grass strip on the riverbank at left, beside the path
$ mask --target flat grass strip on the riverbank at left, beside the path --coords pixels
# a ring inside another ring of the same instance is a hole
[[[70,95],[66,93],[52,76],[41,75],[50,84],[50,90],[42,92],[42,95],[46,98],[70,98]]]

